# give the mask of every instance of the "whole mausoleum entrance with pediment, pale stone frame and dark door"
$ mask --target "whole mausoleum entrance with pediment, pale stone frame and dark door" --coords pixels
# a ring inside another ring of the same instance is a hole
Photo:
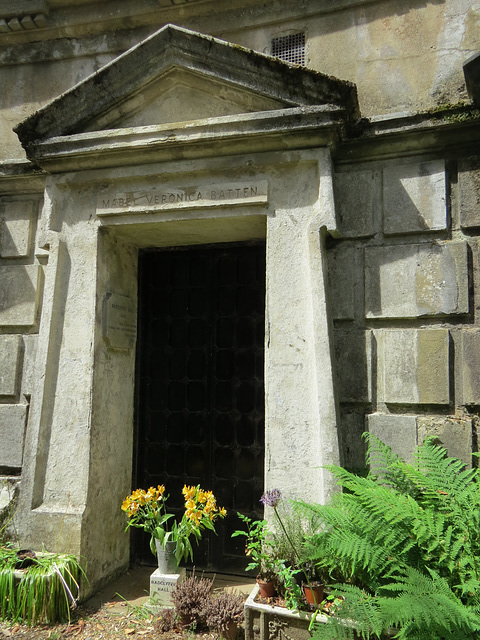
[[[336,491],[325,237],[357,112],[353,85],[169,25],[17,127],[47,174],[25,546],[58,540],[95,588],[128,565],[132,486],[205,483],[231,519],[195,562],[225,570],[264,488]]]

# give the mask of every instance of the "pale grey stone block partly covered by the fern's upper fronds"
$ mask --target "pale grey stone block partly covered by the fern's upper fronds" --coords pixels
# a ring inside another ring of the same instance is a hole
[[[413,462],[417,448],[417,417],[372,413],[368,431],[406,462]]]

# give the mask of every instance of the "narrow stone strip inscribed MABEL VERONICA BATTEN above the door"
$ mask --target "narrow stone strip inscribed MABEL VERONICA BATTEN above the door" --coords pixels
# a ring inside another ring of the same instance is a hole
[[[142,191],[99,195],[97,197],[97,215],[111,216],[170,209],[266,204],[267,202],[268,183],[266,180],[165,189],[152,187]]]

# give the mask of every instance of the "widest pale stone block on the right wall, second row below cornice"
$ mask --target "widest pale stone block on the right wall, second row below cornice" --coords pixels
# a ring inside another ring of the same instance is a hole
[[[365,249],[367,318],[418,318],[468,312],[464,242]]]

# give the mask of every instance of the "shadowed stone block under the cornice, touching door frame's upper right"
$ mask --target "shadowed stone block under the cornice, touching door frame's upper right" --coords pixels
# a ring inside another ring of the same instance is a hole
[[[336,173],[334,187],[339,235],[343,238],[374,235],[376,215],[381,209],[380,172]]]

